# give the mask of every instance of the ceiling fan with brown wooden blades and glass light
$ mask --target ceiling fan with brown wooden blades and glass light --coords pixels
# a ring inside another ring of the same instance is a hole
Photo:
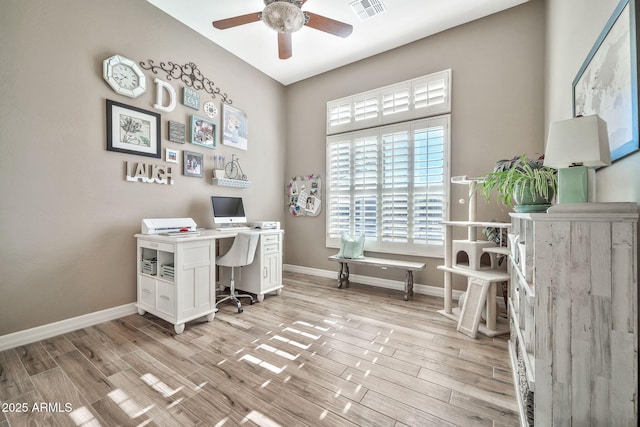
[[[352,25],[315,13],[303,12],[302,5],[306,2],[307,0],[264,0],[265,7],[262,12],[213,21],[213,26],[219,30],[226,30],[262,21],[267,27],[278,32],[278,56],[280,59],[291,58],[291,33],[298,31],[304,25],[343,38],[349,36],[353,31]]]

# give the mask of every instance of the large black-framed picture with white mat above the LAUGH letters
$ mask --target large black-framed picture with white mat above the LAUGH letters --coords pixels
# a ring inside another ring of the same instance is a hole
[[[107,150],[160,158],[160,114],[107,99]]]

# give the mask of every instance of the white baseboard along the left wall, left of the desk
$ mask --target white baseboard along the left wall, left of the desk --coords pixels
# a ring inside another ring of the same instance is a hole
[[[137,312],[138,309],[134,303],[125,304],[119,307],[107,308],[105,310],[61,320],[59,322],[25,329],[24,331],[2,335],[0,336],[0,351],[55,337],[56,335],[66,334],[67,332],[86,328],[102,322],[108,322],[109,320],[118,319]]]

